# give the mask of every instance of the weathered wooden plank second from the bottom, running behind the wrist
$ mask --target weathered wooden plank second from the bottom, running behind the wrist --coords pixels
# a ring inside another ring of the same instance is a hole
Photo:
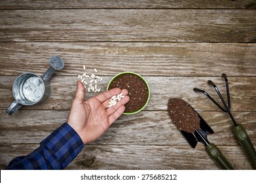
[[[256,145],[256,112],[233,114]],[[214,134],[208,135],[210,142],[216,145],[238,145],[232,133],[232,122],[227,114],[200,112],[200,115],[215,131]],[[56,127],[62,125],[67,116],[68,111],[61,110],[22,110],[12,116],[0,110],[0,145],[39,143]],[[172,123],[168,112],[143,111],[135,115],[122,115],[105,135],[92,144],[187,145],[188,142]]]

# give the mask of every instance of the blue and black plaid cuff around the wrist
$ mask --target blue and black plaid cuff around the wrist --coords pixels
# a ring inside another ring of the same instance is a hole
[[[64,169],[81,152],[84,144],[77,132],[67,123],[54,130],[41,142],[52,169]]]

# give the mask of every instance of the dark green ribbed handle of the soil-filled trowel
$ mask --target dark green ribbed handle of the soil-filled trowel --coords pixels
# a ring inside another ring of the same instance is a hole
[[[222,170],[234,170],[232,165],[229,163],[228,159],[221,153],[219,148],[215,146],[215,144],[209,144],[206,146],[206,152],[208,152],[209,156],[215,161],[215,163]]]

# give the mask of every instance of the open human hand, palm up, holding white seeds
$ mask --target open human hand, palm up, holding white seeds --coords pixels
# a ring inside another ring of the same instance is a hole
[[[117,105],[108,108],[109,99],[121,92],[125,97]],[[84,101],[84,85],[77,81],[77,92],[67,118],[67,124],[75,129],[84,144],[95,141],[122,115],[125,110],[124,105],[130,100],[127,94],[128,91],[125,89],[121,91],[120,88],[113,88]]]

